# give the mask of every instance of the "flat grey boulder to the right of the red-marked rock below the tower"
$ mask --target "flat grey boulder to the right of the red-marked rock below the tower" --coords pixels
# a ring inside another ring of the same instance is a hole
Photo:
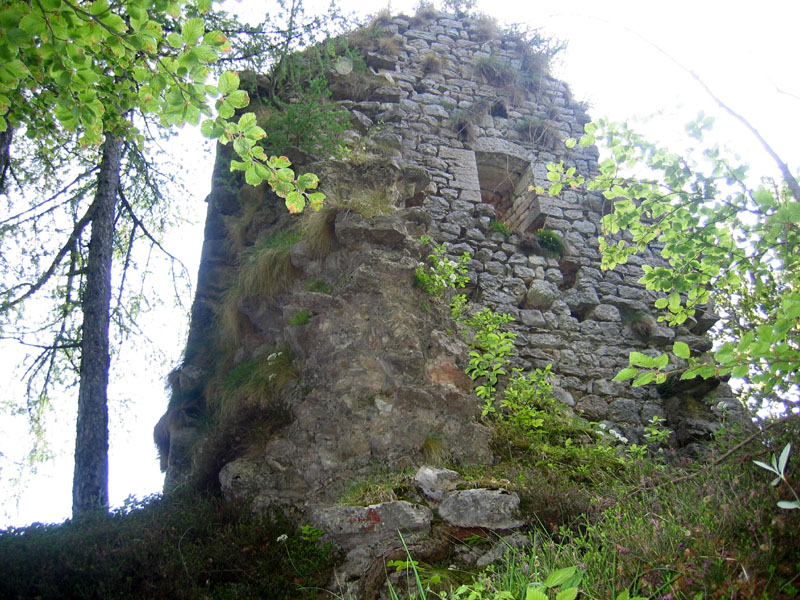
[[[455,527],[514,529],[519,518],[519,496],[506,490],[462,490],[451,492],[439,505],[439,516]]]

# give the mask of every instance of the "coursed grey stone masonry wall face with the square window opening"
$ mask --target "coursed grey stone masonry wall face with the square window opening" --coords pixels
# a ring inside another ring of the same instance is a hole
[[[665,401],[655,386],[612,379],[632,350],[660,353],[677,340],[708,350],[704,334],[713,315],[677,331],[659,326],[651,314],[656,296],[638,283],[641,264],[658,264],[656,256],[631,257],[610,272],[599,268],[597,236],[609,201],[581,190],[556,198],[528,191],[549,188],[548,162],[563,161],[587,177],[597,171],[595,147],[563,144],[583,134],[585,108],[564,83],[537,71],[535,50],[513,37],[487,39],[485,22],[400,17],[382,29],[400,36],[403,50],[368,54],[367,62],[391,84],[381,88],[381,101],[343,105],[358,115],[362,135],[379,130],[380,143],[430,173],[424,207],[433,237],[453,258],[470,252],[473,297],[517,319],[519,366],[552,363],[561,400],[633,442],[654,415],[667,418],[679,445],[705,439],[717,421],[710,401]],[[439,72],[426,68],[432,54]],[[494,231],[495,220],[513,234]],[[563,257],[526,251],[524,240],[540,228],[563,237]],[[735,408],[731,395],[723,386],[715,402]]]

